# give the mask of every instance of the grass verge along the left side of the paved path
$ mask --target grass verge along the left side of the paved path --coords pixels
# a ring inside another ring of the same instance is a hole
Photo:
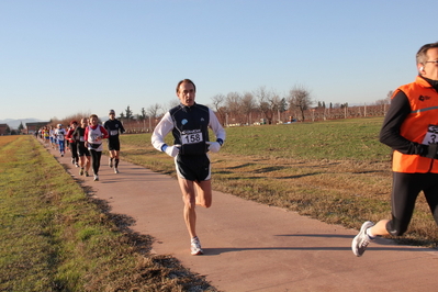
[[[126,221],[33,137],[0,137],[0,291],[215,291]]]

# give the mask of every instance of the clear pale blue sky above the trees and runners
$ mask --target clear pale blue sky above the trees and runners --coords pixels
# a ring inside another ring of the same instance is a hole
[[[259,88],[372,104],[414,81],[436,1],[0,0],[0,120],[134,114]]]

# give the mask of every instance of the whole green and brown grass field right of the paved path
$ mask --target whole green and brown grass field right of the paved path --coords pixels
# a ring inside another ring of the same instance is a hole
[[[359,228],[390,217],[391,149],[382,117],[226,128],[212,154],[213,188],[321,221]],[[168,143],[172,139],[168,136]],[[122,158],[175,177],[173,160],[150,134],[122,136]],[[420,195],[404,244],[435,247],[438,234]]]

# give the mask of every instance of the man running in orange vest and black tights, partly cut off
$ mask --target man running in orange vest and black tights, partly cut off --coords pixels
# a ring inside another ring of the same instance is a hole
[[[351,243],[357,257],[375,236],[407,231],[422,191],[438,224],[438,42],[422,46],[416,63],[415,81],[394,91],[380,131],[380,142],[394,150],[392,218],[362,224]]]

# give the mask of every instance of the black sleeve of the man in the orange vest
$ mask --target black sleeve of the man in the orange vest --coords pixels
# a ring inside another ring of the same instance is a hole
[[[400,134],[400,128],[411,113],[411,104],[403,91],[391,100],[390,110],[380,131],[380,142],[403,154],[420,154],[423,146],[411,142]]]

